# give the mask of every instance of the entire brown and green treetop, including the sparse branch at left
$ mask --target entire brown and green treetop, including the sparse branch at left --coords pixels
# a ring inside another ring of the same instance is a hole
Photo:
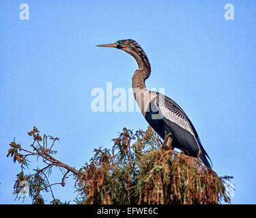
[[[40,136],[36,127],[28,132],[33,138],[31,149],[24,149],[16,142],[10,143],[8,157],[18,161],[21,172],[17,174],[14,194],[29,182],[29,196],[34,204],[44,204],[42,191],[50,191],[51,204],[61,204],[53,194],[53,185],[65,186],[68,174],[75,178],[79,204],[219,204],[230,202],[225,181],[230,176],[220,177],[203,166],[201,161],[177,151],[160,149],[162,140],[148,127],[146,131],[124,128],[113,139],[111,149],[94,149],[94,156],[80,170],[76,170],[53,157],[53,136]],[[51,141],[51,146],[48,142]],[[42,159],[44,166],[25,175],[28,157]],[[61,182],[49,183],[53,166],[63,173]],[[20,198],[20,197],[19,197]]]

